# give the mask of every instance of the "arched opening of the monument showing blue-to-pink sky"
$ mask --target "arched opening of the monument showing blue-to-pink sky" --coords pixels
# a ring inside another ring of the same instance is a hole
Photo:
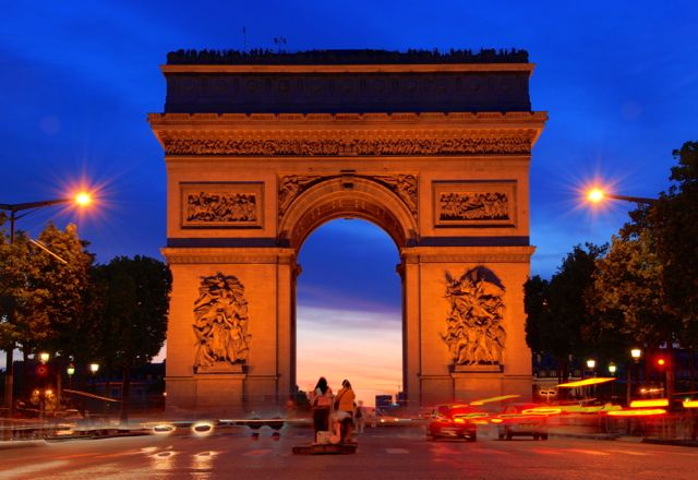
[[[323,224],[299,252],[296,372],[302,391],[318,375],[337,391],[349,379],[357,399],[395,395],[402,385],[401,281],[395,242],[357,218]]]

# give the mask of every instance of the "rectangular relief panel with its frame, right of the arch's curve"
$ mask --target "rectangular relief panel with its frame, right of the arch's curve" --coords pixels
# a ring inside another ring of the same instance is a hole
[[[516,181],[433,183],[434,227],[516,227]]]

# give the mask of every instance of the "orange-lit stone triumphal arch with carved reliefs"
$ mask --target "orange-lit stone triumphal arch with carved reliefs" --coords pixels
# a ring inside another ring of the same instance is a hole
[[[168,406],[282,405],[297,256],[334,218],[395,241],[410,405],[531,394],[524,288],[532,111],[524,51],[176,52],[163,67],[173,275]]]

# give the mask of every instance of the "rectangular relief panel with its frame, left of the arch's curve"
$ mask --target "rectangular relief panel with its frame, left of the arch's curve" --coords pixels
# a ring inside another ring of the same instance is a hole
[[[182,228],[262,228],[263,182],[180,183]]]

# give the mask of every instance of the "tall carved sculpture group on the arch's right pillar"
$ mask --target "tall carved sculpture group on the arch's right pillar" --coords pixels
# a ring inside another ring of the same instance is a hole
[[[443,340],[455,365],[502,365],[506,332],[504,287],[482,267],[453,278],[446,272],[449,312]]]

